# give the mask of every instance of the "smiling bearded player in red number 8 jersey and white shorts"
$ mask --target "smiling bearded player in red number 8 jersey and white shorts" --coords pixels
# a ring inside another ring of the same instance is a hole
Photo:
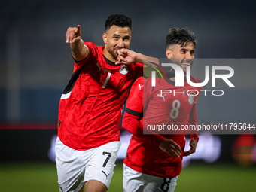
[[[187,29],[170,29],[166,36],[166,56],[181,66],[184,78],[186,66],[193,65],[196,46],[194,34]],[[120,50],[119,54],[120,60],[129,62],[138,57],[131,50]],[[192,76],[190,80],[200,83]],[[151,85],[151,78],[136,80],[123,116],[123,128],[133,133],[123,162],[123,191],[175,190],[183,156],[193,154],[197,148],[197,130],[189,130],[190,150],[184,152],[187,130],[181,128],[197,124],[196,104],[200,89],[190,86],[187,81],[184,87],[175,87],[175,76],[157,78],[155,87]],[[158,134],[161,131],[143,134],[143,129],[152,132],[148,126],[153,125],[175,125],[178,129],[167,130],[168,134],[165,131],[162,135]]]

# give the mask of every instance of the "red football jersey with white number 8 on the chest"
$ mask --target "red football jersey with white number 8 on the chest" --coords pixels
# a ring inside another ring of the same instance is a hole
[[[154,127],[157,124],[173,124],[178,128],[181,128],[181,125],[197,124],[196,104],[201,87],[191,87],[187,84],[187,81],[185,81],[184,87],[175,87],[173,81],[160,78],[156,79],[156,87],[152,87],[151,78],[145,79],[143,83],[139,82],[139,79],[136,81],[137,85],[135,83],[135,86],[131,89],[133,94],[130,94],[127,99],[126,108],[128,110],[126,109],[123,117],[123,127],[130,132],[132,130],[133,134],[135,134],[130,140],[123,163],[137,172],[157,177],[173,178],[181,172],[187,130],[158,132],[156,130],[147,130],[147,128],[148,125]],[[197,78],[190,77],[190,79],[195,83],[200,82]],[[139,92],[138,84],[143,84],[143,96],[141,96],[142,92]],[[166,91],[164,92],[163,90]],[[169,93],[170,91],[172,92]],[[134,93],[139,94],[139,96],[134,96]],[[140,99],[140,101],[135,101],[136,99]],[[143,103],[143,106],[138,103]],[[136,119],[135,117],[139,117],[139,113],[135,116],[136,114],[133,111],[142,113],[143,109],[143,125],[142,120],[140,120],[141,125],[137,126],[137,130],[134,130],[128,124],[128,119]],[[145,133],[153,131],[154,134],[142,136],[143,126],[144,130],[147,130]],[[159,134],[157,135],[157,133]],[[188,133],[190,138],[193,137],[198,140],[197,130],[189,130]],[[172,139],[180,145],[183,151],[180,157],[172,158],[158,147],[163,137]]]

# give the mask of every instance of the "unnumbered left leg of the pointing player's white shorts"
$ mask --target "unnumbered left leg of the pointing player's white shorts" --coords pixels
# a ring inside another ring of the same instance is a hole
[[[56,168],[59,191],[78,191],[84,185],[85,165],[81,151],[69,148],[56,139]]]

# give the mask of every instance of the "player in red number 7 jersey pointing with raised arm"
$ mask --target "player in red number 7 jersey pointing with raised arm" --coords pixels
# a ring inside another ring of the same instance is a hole
[[[130,17],[109,16],[104,47],[84,43],[79,25],[67,29],[75,66],[59,102],[59,191],[108,190],[120,148],[123,101],[132,82],[142,75],[142,63],[115,65],[117,50],[130,46],[131,27]]]

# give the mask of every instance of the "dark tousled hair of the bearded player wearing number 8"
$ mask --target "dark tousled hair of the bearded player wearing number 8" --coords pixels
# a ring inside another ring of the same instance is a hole
[[[190,32],[187,28],[169,29],[169,34],[166,36],[166,49],[173,44],[179,44],[181,47],[185,47],[190,42],[194,44],[194,47],[197,47],[194,32]]]

